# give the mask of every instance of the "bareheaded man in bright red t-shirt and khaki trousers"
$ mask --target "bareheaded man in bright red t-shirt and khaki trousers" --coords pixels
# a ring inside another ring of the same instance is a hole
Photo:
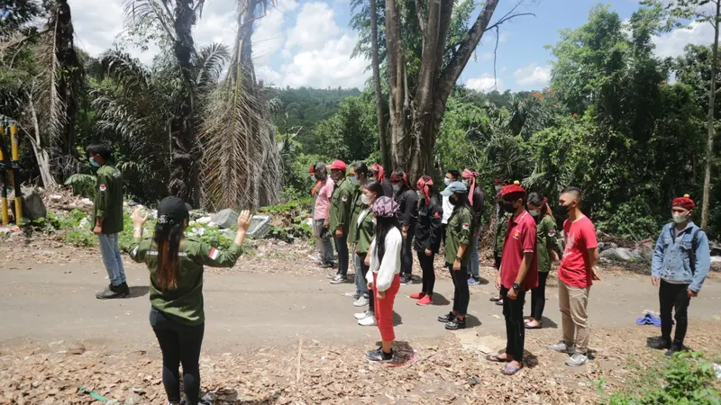
[[[549,349],[567,353],[566,365],[585,365],[589,358],[589,291],[593,280],[600,280],[598,242],[591,220],[580,211],[581,191],[568,187],[559,197],[558,213],[568,216],[563,222],[566,248],[558,269],[558,300],[563,320],[563,338]]]

